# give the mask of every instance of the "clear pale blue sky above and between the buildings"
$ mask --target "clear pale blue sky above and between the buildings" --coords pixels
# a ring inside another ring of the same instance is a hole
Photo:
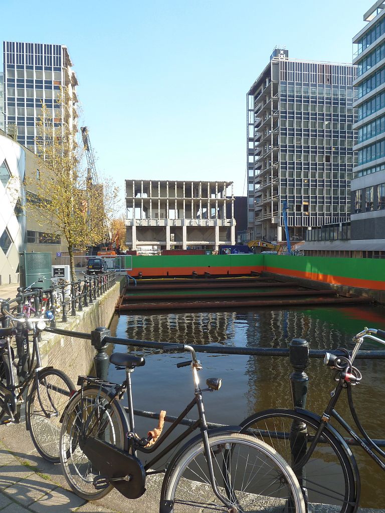
[[[63,44],[97,168],[125,179],[234,181],[246,193],[246,92],[275,46],[352,61],[371,2],[1,0],[2,38]],[[122,209],[123,210],[123,209]]]

